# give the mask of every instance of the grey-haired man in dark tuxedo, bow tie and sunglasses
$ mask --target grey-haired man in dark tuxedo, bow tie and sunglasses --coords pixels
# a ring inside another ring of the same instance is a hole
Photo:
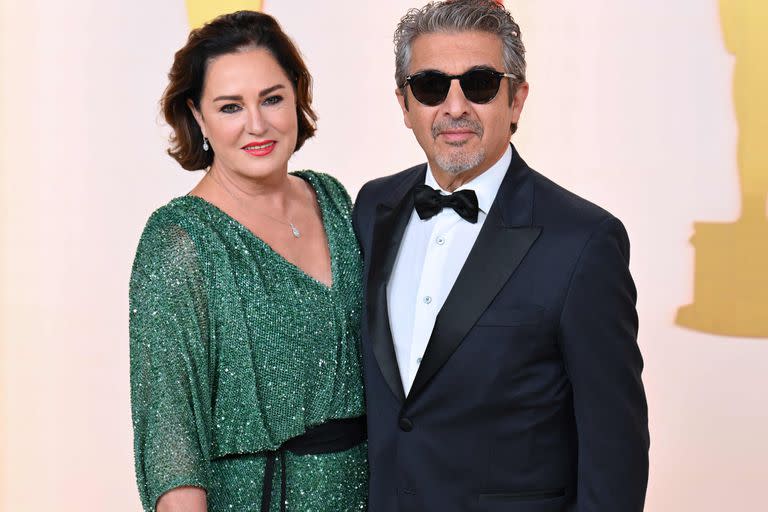
[[[510,145],[528,93],[518,26],[491,0],[434,2],[395,45],[428,163],[366,184],[354,214],[369,510],[642,510],[629,241]]]

